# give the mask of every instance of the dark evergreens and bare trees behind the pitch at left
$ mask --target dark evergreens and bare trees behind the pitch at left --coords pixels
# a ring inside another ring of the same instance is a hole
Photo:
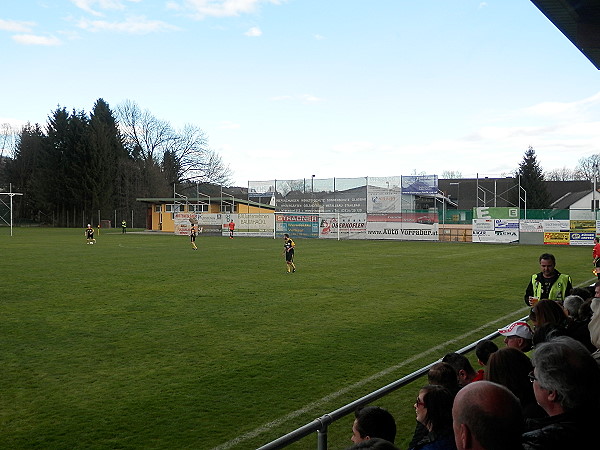
[[[176,130],[132,101],[112,111],[100,98],[89,114],[58,106],[44,127],[28,123],[12,141],[3,127],[1,181],[24,194],[14,204],[22,219],[69,226],[76,214],[91,221],[97,211],[103,218],[117,211],[121,220],[132,210],[144,217],[136,198],[230,182],[229,168],[200,128]]]

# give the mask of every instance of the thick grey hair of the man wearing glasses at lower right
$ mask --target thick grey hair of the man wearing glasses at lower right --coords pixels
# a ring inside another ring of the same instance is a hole
[[[556,392],[564,411],[598,401],[600,367],[583,344],[559,336],[536,346],[532,357],[538,384]]]

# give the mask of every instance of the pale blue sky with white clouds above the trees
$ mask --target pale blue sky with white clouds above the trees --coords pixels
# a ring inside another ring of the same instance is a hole
[[[133,101],[236,186],[600,153],[600,71],[530,0],[4,1],[0,55],[0,124]]]

